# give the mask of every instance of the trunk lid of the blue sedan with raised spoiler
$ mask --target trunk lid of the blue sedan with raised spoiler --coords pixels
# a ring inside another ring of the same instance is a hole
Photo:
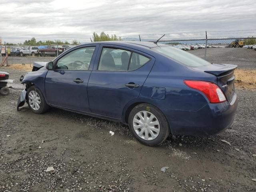
[[[235,92],[235,76],[234,70],[237,65],[232,64],[212,64],[200,68],[200,70],[213,74],[217,77],[217,84],[224,92],[227,101],[230,102]]]

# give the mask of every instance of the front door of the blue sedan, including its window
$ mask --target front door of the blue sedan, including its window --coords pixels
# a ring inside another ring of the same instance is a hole
[[[97,46],[77,48],[54,61],[45,78],[47,101],[56,106],[89,112],[87,84]]]

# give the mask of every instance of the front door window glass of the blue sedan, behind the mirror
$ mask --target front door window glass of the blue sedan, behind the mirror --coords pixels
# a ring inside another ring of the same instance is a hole
[[[88,70],[94,49],[84,47],[66,54],[58,60],[56,70]]]

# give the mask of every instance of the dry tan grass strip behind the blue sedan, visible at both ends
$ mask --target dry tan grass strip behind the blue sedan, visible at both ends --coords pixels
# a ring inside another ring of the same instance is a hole
[[[33,65],[31,65],[33,66]],[[14,64],[9,66],[12,69],[32,71],[32,67],[29,64]],[[235,86],[237,88],[249,88],[256,89],[256,70],[235,70],[236,82]]]

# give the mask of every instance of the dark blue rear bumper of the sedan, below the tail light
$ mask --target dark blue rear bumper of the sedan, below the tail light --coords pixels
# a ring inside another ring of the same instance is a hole
[[[229,128],[238,106],[236,94],[232,100],[207,104],[198,111],[162,109],[170,124],[172,134],[214,135]]]

